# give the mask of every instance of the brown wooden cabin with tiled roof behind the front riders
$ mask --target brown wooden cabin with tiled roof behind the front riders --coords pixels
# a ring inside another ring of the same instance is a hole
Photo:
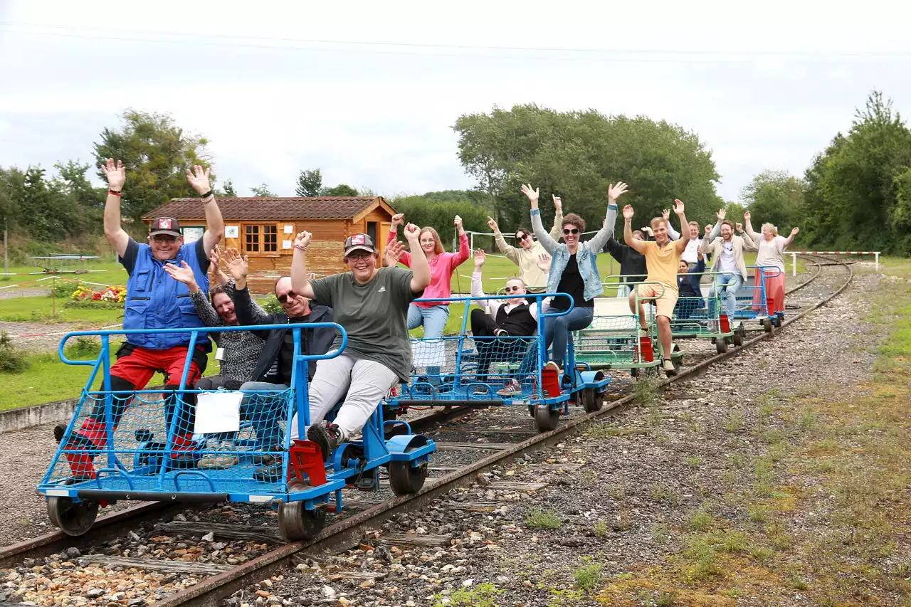
[[[290,273],[294,236],[311,231],[307,269],[317,274],[344,271],[346,238],[368,234],[382,257],[386,234],[395,211],[382,196],[326,196],[322,198],[219,198],[225,221],[222,248],[235,247],[250,259],[253,293],[271,293],[275,279]],[[205,214],[198,198],[174,198],[142,216],[180,222],[184,242],[193,242],[205,230]],[[379,263],[379,262],[377,262]]]

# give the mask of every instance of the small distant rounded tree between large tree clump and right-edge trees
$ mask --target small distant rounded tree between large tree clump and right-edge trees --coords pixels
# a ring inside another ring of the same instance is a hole
[[[772,223],[779,231],[790,232],[804,215],[806,181],[786,170],[763,170],[741,190],[741,200],[752,214],[753,228]]]

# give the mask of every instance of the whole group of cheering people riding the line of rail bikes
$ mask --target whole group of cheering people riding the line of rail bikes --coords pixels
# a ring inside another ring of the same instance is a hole
[[[291,274],[274,283],[274,293],[281,304],[281,314],[267,314],[251,297],[247,276],[247,258],[235,249],[221,251],[224,221],[210,187],[209,170],[194,167],[187,171],[190,186],[200,194],[206,216],[206,231],[200,240],[184,243],[175,218],[160,217],[151,223],[148,242],[130,238],[120,226],[120,197],[126,181],[122,162],[108,159],[102,167],[107,176],[108,195],[105,205],[105,234],[118,253],[118,261],[128,272],[124,329],[163,328],[195,329],[205,326],[286,325],[288,328],[257,331],[213,333],[220,360],[220,373],[203,377],[211,351],[210,340],[200,338],[189,352],[189,334],[131,333],[117,352],[110,368],[110,390],[117,394],[109,409],[105,400],[97,401],[79,427],[67,438],[67,460],[77,477],[95,474],[94,456],[90,450],[103,448],[107,441],[107,424],[116,428],[124,416],[133,394],[144,389],[156,371],[166,377],[164,386],[167,427],[175,412],[177,432],[171,440],[171,458],[192,458],[198,446],[193,441],[196,390],[226,388],[245,393],[241,418],[250,422],[255,433],[258,465],[254,476],[263,480],[281,478],[284,464],[281,445],[284,435],[281,414],[294,370],[293,324],[341,324],[348,341],[341,355],[318,360],[309,365],[310,426],[308,439],[320,445],[324,458],[348,437],[359,432],[390,388],[407,383],[412,374],[412,347],[409,330],[424,327],[424,336],[434,339],[443,335],[449,316],[447,301],[452,297],[451,280],[455,269],[471,255],[462,220],[455,216],[458,252],[445,252],[439,234],[430,227],[404,225],[404,243],[397,240],[404,216],[394,215],[387,236],[384,259],[367,234],[353,234],[343,245],[346,272],[315,278],[307,271],[306,252],[312,234],[302,231],[293,242]],[[479,308],[470,321],[478,345],[479,376],[486,376],[492,349],[489,340],[513,338],[509,349],[519,355],[519,377],[530,376],[537,367],[537,351],[528,348],[529,337],[537,331],[539,314],[548,312],[544,323],[545,347],[550,349],[547,366],[558,373],[564,365],[570,331],[584,329],[594,317],[594,300],[603,286],[598,268],[598,253],[605,247],[620,262],[630,297],[630,309],[637,302],[651,298],[657,307],[660,340],[665,355],[670,355],[670,317],[685,288],[699,290],[698,280],[687,281],[685,274],[701,272],[705,255],[713,257],[712,272],[717,273],[713,288],[726,291],[728,313],[732,315],[737,289],[747,278],[743,250],[759,250],[757,263],[776,266],[781,272],[769,279],[770,298],[775,312],[783,310],[783,250],[793,241],[797,229],[788,238],[778,236],[771,224],[762,233],[752,231],[749,212],[744,215],[749,240],[734,235],[731,221],[718,211],[718,221],[706,226],[699,239],[699,224],[688,222],[684,205],[674,201],[673,211],[681,221],[686,238],[672,231],[670,211],[650,221],[647,240],[643,231],[632,231],[632,207],[623,209],[624,244],[614,240],[618,215],[617,201],[628,190],[626,183],[611,184],[608,205],[599,231],[588,241],[582,240],[586,221],[576,213],[563,214],[562,203],[553,198],[556,216],[553,227],[545,231],[538,209],[539,193],[530,185],[522,192],[530,203],[532,231],[519,228],[515,233],[518,246],[510,246],[489,219],[497,249],[519,268],[519,275],[507,280],[507,299],[491,299],[481,288],[481,272],[486,260],[483,251],[475,252],[475,273],[471,293],[478,298]],[[738,224],[738,228],[739,228]],[[537,240],[535,240],[537,238]],[[560,239],[562,238],[562,242]],[[399,263],[405,267],[399,267]],[[221,269],[224,264],[225,273]],[[379,267],[378,267],[379,266]],[[229,275],[230,274],[230,275]],[[681,274],[678,282],[677,274]],[[211,278],[210,278],[211,276]],[[695,278],[694,276],[691,278]],[[780,279],[780,280],[779,280]],[[644,283],[643,283],[644,282]],[[642,283],[635,286],[635,283]],[[544,289],[547,293],[566,293],[541,304],[529,304],[527,295]],[[631,291],[636,289],[635,292]],[[637,297],[638,293],[638,297]],[[638,310],[643,331],[644,311]],[[770,310],[770,314],[773,310]],[[488,340],[485,342],[485,340]],[[331,355],[340,347],[341,335],[333,329],[307,326],[302,331],[301,352],[304,355]],[[189,357],[186,388],[179,388],[180,376]],[[663,361],[668,374],[673,373],[670,360]],[[438,382],[440,369],[427,368],[427,378]],[[501,396],[521,390],[517,378],[510,380]],[[331,423],[324,418],[341,404]],[[288,427],[291,438],[298,438],[297,419]],[[56,427],[60,441],[66,427]],[[238,463],[232,450],[235,437],[216,437],[220,447],[201,458],[203,468],[229,468]]]

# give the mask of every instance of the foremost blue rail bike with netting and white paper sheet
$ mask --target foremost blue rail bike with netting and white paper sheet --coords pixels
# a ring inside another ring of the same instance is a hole
[[[342,334],[341,347],[326,355],[302,355],[301,331],[318,327]],[[192,351],[200,334],[251,328],[292,331],[294,365],[287,389],[188,389],[189,360],[173,393],[110,389],[112,335],[189,334]],[[67,340],[78,336],[100,337],[101,352],[95,360],[69,360],[64,355]],[[82,535],[91,528],[99,507],[118,499],[252,502],[278,510],[285,540],[308,540],[322,530],[327,511],[343,509],[344,488],[378,489],[381,467],[388,469],[397,495],[418,491],[435,443],[413,434],[403,421],[384,421],[383,406],[374,409],[360,439],[339,445],[328,461],[323,461],[315,443],[291,439],[288,430],[295,415],[297,436],[305,437],[310,425],[308,365],[341,354],[346,344],[343,327],[333,323],[67,334],[59,346],[61,360],[89,366],[91,373],[37,487],[47,497],[49,519],[69,535]],[[195,405],[187,404],[194,400],[190,395],[196,396]],[[327,418],[333,416],[334,411]],[[87,417],[92,417],[94,433],[83,431]],[[387,439],[389,429],[394,436]]]

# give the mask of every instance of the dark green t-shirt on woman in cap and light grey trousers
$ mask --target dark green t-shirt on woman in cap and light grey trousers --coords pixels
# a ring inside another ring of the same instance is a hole
[[[311,281],[313,300],[333,309],[334,321],[348,332],[344,353],[388,367],[403,382],[411,375],[408,304],[421,296],[411,292],[411,270],[380,268],[366,284],[350,272]],[[335,338],[333,348],[342,343]]]

